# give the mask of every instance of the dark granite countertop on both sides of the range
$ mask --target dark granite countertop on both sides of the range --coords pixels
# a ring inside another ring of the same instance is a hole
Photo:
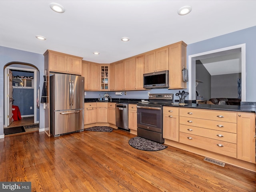
[[[148,101],[148,99],[145,99]],[[138,104],[141,99],[120,99],[112,98],[114,103],[127,103],[127,104]],[[98,98],[86,98],[84,102],[110,102],[110,101],[99,101]],[[185,106],[164,104],[164,106],[180,107],[180,108],[195,108],[195,109],[209,109],[209,110],[223,110],[223,111],[236,111],[236,112],[250,112],[256,113],[256,102],[241,102],[241,105],[211,105],[211,104],[188,104]]]

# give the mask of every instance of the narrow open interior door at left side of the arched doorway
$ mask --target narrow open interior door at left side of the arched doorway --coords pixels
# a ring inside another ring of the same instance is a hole
[[[7,78],[8,78],[8,88],[7,88],[7,97],[9,98],[9,104],[7,108],[8,114],[8,122],[7,126],[9,126],[13,122],[12,118],[12,71],[10,69],[7,70]]]

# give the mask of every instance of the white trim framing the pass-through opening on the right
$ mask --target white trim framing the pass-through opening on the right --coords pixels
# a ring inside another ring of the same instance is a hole
[[[196,60],[200,57],[204,57],[207,54],[216,54],[218,52],[233,50],[241,48],[241,79],[242,79],[242,89],[241,89],[241,101],[246,101],[246,53],[245,53],[246,44],[239,44],[230,47],[220,48],[216,50],[211,50],[207,52],[202,52],[194,55],[188,56],[188,92],[191,93],[188,95],[188,100],[196,100]]]

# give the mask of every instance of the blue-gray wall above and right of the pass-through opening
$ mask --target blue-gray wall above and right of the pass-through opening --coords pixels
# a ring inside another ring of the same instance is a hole
[[[188,56],[246,44],[246,99],[247,102],[256,102],[256,26],[244,30],[239,30],[222,36],[214,37],[204,41],[189,44],[187,46],[187,63]],[[190,70],[190,69],[188,69]]]

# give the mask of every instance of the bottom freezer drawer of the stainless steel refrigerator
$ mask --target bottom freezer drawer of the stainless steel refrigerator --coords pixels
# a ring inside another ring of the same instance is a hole
[[[84,109],[54,112],[54,126],[51,126],[53,136],[79,130],[84,130]]]

